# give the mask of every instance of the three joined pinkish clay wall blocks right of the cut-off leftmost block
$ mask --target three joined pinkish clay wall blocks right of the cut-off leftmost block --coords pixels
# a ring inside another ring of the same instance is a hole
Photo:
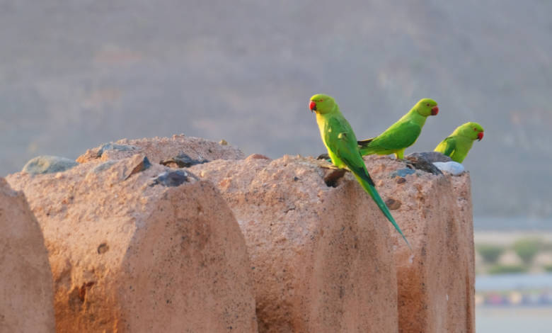
[[[469,174],[367,157],[410,250],[311,157],[176,135],[78,161],[7,177],[45,237],[57,332],[473,332]]]

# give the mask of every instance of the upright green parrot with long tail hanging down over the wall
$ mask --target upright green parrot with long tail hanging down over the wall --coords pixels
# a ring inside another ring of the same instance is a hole
[[[387,205],[381,200],[379,193],[376,191],[374,181],[372,181],[372,178],[368,174],[364,160],[358,151],[355,132],[352,131],[351,125],[349,125],[339,111],[338,104],[330,96],[317,94],[311,97],[309,108],[316,113],[316,123],[318,123],[322,141],[326,149],[328,149],[328,154],[333,164],[340,169],[347,167],[352,171],[352,174],[355,175],[364,191],[367,191],[372,197],[381,212],[384,213],[385,217],[393,224],[408,247],[410,247],[401,228],[398,227],[397,222],[395,222],[391,212],[389,212],[389,208],[387,208]]]

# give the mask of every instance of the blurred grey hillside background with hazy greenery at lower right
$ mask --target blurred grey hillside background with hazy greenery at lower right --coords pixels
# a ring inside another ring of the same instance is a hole
[[[551,14],[546,0],[0,0],[0,176],[177,133],[318,155],[313,94],[360,138],[434,98],[407,153],[485,128],[464,162],[478,332],[550,332]]]

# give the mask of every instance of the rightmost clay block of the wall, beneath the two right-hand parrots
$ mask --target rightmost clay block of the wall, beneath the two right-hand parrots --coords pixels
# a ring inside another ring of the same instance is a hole
[[[473,332],[469,174],[436,176],[417,170],[399,183],[389,181],[389,175],[404,169],[404,162],[375,156],[365,160],[382,198],[401,202],[393,216],[413,247],[410,251],[401,236],[391,232],[396,247],[399,332]]]

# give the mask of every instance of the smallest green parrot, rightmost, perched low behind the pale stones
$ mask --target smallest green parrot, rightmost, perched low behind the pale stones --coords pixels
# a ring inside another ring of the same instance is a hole
[[[473,145],[473,141],[483,139],[483,128],[478,123],[465,123],[452,132],[449,137],[442,140],[435,152],[441,152],[452,158],[454,162],[464,161]]]

